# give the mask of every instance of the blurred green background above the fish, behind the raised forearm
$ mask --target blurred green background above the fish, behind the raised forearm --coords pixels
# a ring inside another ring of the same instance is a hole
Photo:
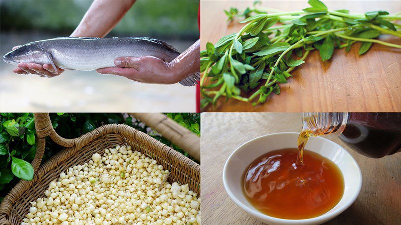
[[[119,0],[115,0],[116,4]],[[92,0],[0,0],[2,32],[69,35]],[[137,0],[110,36],[198,39],[199,0]]]

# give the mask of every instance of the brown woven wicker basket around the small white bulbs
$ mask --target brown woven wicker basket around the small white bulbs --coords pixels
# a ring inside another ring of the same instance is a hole
[[[189,184],[191,190],[200,194],[200,166],[176,150],[149,135],[127,125],[103,125],[75,139],[60,137],[52,127],[48,113],[35,113],[37,150],[32,166],[34,178],[21,180],[0,204],[0,224],[20,224],[28,213],[30,201],[45,197],[49,183],[60,173],[74,165],[89,162],[92,154],[103,154],[104,149],[128,144],[133,150],[152,156],[164,169],[170,171],[169,182]],[[45,150],[45,138],[66,147],[44,164],[40,165]]]

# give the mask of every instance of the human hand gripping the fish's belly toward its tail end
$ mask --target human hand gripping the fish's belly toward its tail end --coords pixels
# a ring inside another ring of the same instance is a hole
[[[119,57],[114,60],[117,67],[97,69],[101,74],[124,76],[142,83],[173,84],[177,79],[170,63],[153,56]]]

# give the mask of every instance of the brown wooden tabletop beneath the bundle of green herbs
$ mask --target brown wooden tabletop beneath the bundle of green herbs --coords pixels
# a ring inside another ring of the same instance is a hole
[[[244,10],[253,1],[202,0],[201,41],[216,43],[221,37],[238,32],[243,25],[238,20],[227,24],[223,9]],[[349,9],[351,13],[387,10],[401,11],[399,0],[324,0],[330,10]],[[299,11],[308,7],[307,0],[262,1],[263,7],[283,11]],[[401,44],[401,39],[382,36],[381,40]],[[288,83],[280,84],[281,94],[269,97],[262,105],[221,98],[216,107],[204,111],[401,111],[401,50],[379,44],[362,56],[359,44],[351,51],[337,49],[333,58],[322,62],[319,52],[313,51],[306,62],[292,72]],[[273,95],[273,94],[272,94]]]

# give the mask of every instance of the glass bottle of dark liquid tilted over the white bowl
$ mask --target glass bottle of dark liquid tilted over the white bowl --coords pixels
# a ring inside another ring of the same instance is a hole
[[[401,151],[401,113],[303,113],[311,136],[335,135],[357,152],[381,158]]]

